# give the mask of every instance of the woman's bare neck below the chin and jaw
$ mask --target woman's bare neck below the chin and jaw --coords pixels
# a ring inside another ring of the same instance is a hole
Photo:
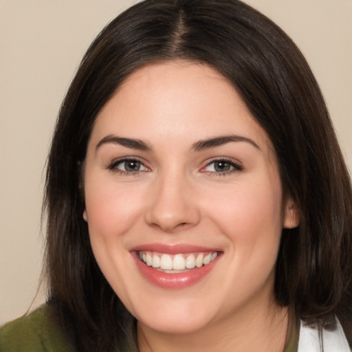
[[[164,333],[138,322],[137,338],[140,352],[282,352],[288,322],[288,309],[270,304],[261,310],[243,309],[190,333]]]

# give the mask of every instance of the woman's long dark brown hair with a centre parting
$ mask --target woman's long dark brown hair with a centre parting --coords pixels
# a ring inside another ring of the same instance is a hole
[[[274,146],[298,228],[283,230],[274,292],[298,318],[352,318],[352,190],[316,80],[296,45],[238,0],[147,0],[111,21],[85,54],[58,116],[44,211],[46,274],[56,314],[82,351],[135,344],[135,322],[99,270],[89,243],[81,167],[100,109],[135,69],[188,60],[217,69]]]

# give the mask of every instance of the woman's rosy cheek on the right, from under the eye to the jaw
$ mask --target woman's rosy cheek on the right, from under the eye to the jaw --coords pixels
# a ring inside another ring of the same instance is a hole
[[[228,199],[223,206],[220,201],[213,203],[211,212],[212,221],[231,243],[229,292],[235,292],[238,285],[243,296],[251,296],[263,285],[271,290],[282,231],[281,188],[270,183],[243,187]]]

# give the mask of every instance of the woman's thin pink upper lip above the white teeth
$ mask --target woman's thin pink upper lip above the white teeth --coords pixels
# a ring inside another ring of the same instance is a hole
[[[174,245],[165,243],[147,243],[142,245],[136,245],[135,247],[131,248],[131,252],[132,251],[148,251],[165,254],[182,254],[192,252],[222,252],[221,250],[219,250],[219,248],[210,248],[186,243],[177,243]]]

